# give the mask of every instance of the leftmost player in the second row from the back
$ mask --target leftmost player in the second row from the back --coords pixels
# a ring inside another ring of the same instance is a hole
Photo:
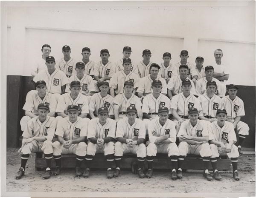
[[[64,72],[55,68],[55,59],[53,56],[47,56],[45,64],[47,69],[35,75],[33,81],[36,83],[38,80],[44,80],[47,84],[47,92],[55,94],[54,96],[58,101],[60,95],[65,92],[68,78]]]

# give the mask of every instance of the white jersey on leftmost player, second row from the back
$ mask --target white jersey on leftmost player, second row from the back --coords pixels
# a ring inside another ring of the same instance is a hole
[[[47,92],[52,94],[61,94],[61,86],[64,86],[68,83],[68,78],[59,69],[55,69],[55,71],[50,75],[48,70],[38,73],[33,81],[36,83],[38,80],[44,80],[47,85]]]

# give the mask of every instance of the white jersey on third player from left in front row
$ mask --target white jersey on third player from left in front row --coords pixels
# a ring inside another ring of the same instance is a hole
[[[115,138],[116,121],[110,118],[107,118],[107,121],[103,126],[99,123],[99,118],[91,119],[88,125],[90,126],[90,129],[88,129],[87,138]]]

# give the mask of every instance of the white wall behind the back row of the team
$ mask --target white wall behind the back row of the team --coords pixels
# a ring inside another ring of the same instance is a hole
[[[1,9],[2,25],[10,26],[8,32],[1,27],[1,39],[9,37],[9,56],[1,66],[7,75],[29,75],[45,43],[56,58],[63,45],[71,46],[73,57],[89,46],[95,61],[102,48],[115,61],[128,45],[134,60],[149,48],[154,61],[169,51],[176,62],[180,50],[187,49],[189,61],[204,54],[205,62],[211,62],[213,51],[221,48],[228,65],[248,66],[243,78],[232,70],[230,80],[255,85],[254,1],[2,2]]]

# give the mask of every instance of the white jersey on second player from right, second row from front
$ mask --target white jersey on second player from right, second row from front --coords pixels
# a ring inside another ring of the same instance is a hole
[[[212,118],[216,118],[217,109],[222,109],[221,98],[215,94],[212,96],[212,98],[209,98],[205,93],[200,95],[198,100],[200,101],[204,116],[211,116]]]

